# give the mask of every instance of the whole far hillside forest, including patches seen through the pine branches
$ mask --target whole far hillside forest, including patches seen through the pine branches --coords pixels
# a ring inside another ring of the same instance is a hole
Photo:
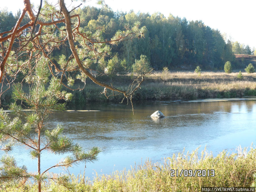
[[[93,34],[100,30],[104,40],[111,39],[117,31],[121,32],[135,24],[146,27],[143,36],[112,45],[112,55],[106,57],[104,62],[108,69],[112,68],[113,71],[115,68],[115,73],[131,71],[135,59],[140,59],[141,55],[148,58],[155,70],[162,70],[163,67],[194,70],[198,65],[203,70],[223,70],[226,61],[233,63],[235,69],[243,66],[236,62],[234,54],[251,55],[254,52],[254,48],[232,42],[222,36],[219,30],[206,26],[202,20],[188,21],[172,14],[166,18],[161,13],[150,15],[134,13],[133,10],[129,13],[114,12],[106,7],[89,6],[78,8],[75,14],[80,15],[80,27],[84,32]],[[14,15],[1,10],[0,33],[11,30],[19,15],[20,11]],[[28,21],[26,15],[21,25]],[[53,50],[50,57],[57,63],[61,55],[68,57],[70,54],[68,43],[65,43]],[[104,71],[97,63],[92,63],[91,69]]]

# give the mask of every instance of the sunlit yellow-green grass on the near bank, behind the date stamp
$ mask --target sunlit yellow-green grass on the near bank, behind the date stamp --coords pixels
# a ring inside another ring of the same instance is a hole
[[[216,157],[199,149],[165,158],[162,163],[131,166],[131,169],[110,175],[96,174],[93,180],[71,176],[72,191],[201,191],[201,187],[255,187],[256,149],[237,148],[237,153],[222,151]],[[202,170],[202,171],[200,171]],[[27,183],[20,188],[0,185],[1,191],[37,191]],[[46,181],[42,191],[67,191],[63,186]]]

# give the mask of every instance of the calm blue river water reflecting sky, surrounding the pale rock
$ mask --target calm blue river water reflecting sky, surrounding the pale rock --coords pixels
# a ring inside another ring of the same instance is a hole
[[[115,170],[153,162],[172,156],[173,153],[195,150],[201,146],[216,156],[222,150],[235,152],[241,147],[250,147],[256,140],[256,101],[147,101],[135,103],[135,115],[130,105],[92,104],[81,106],[89,112],[69,111],[53,113],[46,127],[53,129],[57,124],[64,127],[67,137],[84,149],[101,148],[98,161],[86,163],[85,175],[93,178],[98,174],[111,174]],[[154,120],[150,115],[160,110],[165,118]],[[249,150],[249,148],[248,148]],[[18,165],[25,164],[29,171],[37,170],[37,161],[31,160],[29,150],[16,147]],[[0,152],[0,156],[4,154]],[[56,164],[63,156],[49,152],[41,155],[42,171]],[[69,168],[75,175],[83,173],[84,164]],[[50,172],[66,173],[54,168]]]

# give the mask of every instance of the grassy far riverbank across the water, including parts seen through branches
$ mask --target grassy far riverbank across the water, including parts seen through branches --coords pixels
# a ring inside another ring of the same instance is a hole
[[[202,72],[156,72],[146,77],[141,89],[137,90],[133,100],[196,100],[206,98],[236,98],[256,96],[256,73],[242,73],[244,78],[238,79],[238,73]],[[131,83],[132,75],[116,77],[99,77],[99,80],[112,83],[116,88],[126,90]],[[78,82],[76,86],[79,85]],[[26,86],[25,86],[26,89]],[[73,99],[69,106],[83,106],[90,102],[120,102],[122,94],[107,99],[103,88],[87,80],[84,90],[73,92]],[[3,105],[10,104],[11,90],[1,97]]]

